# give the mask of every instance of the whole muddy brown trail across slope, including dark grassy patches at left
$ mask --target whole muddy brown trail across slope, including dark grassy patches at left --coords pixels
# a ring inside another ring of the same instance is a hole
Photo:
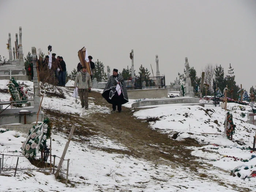
[[[101,94],[92,91],[89,97],[94,98],[95,105],[107,106],[112,108]],[[91,100],[92,101],[92,100]],[[90,102],[90,99],[89,99]],[[84,109],[81,109],[84,110]],[[93,110],[93,109],[90,109]],[[127,154],[136,158],[143,158],[157,164],[171,165],[173,168],[180,167],[189,170],[191,173],[199,176],[202,180],[211,180],[218,182],[219,185],[233,187],[235,190],[248,191],[246,188],[239,188],[236,185],[225,184],[223,180],[207,174],[209,167],[211,170],[218,169],[200,161],[201,159],[191,155],[191,150],[185,147],[202,146],[195,139],[185,138],[184,140],[174,140],[167,134],[163,134],[150,128],[146,120],[136,119],[133,117],[132,109],[122,106],[121,113],[90,113],[86,117],[79,117],[76,114],[63,114],[57,111],[44,110],[46,116],[50,117],[55,125],[56,131],[69,134],[69,129],[63,129],[63,124],[71,127],[76,124],[74,132],[75,138],[72,140],[78,142],[90,143],[94,135],[106,136],[111,140],[121,143],[128,150],[116,150],[112,148],[101,148],[100,146],[91,145],[98,150],[108,153]],[[205,173],[202,173],[205,170]],[[220,169],[218,169],[220,171]],[[221,170],[224,174],[229,172]]]

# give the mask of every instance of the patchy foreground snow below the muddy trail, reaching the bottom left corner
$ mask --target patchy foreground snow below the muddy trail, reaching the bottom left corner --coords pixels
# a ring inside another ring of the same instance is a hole
[[[14,135],[19,134],[17,138]],[[21,142],[25,140],[22,134],[15,131],[7,131],[0,134],[1,153],[21,155]],[[6,140],[11,140],[6,143]],[[61,156],[67,141],[64,134],[52,135],[52,154]],[[48,141],[49,142],[49,141]],[[113,148],[119,148],[119,144],[112,143]],[[8,151],[8,152],[7,152]],[[53,175],[45,175],[38,171],[18,171],[16,177],[0,176],[0,191],[145,191],[145,192],[198,192],[198,191],[227,191],[234,192],[232,187],[225,187],[218,183],[200,178],[200,174],[195,174],[182,167],[172,167],[166,165],[155,165],[143,159],[136,159],[123,154],[109,154],[104,151],[94,150],[93,146],[84,145],[77,142],[69,144],[69,150],[65,159],[70,159],[69,180],[75,187],[66,187],[57,182]],[[6,164],[15,166],[16,157],[8,158]],[[20,157],[18,168],[30,167],[29,161],[25,157]],[[48,159],[49,162],[49,159]],[[56,164],[59,158],[56,158]],[[66,167],[67,161],[64,161]],[[10,171],[9,171],[10,172]],[[209,170],[210,172],[210,170]],[[223,173],[211,170],[214,177],[223,177]],[[29,174],[27,174],[29,173]],[[209,174],[209,173],[208,173]],[[229,176],[225,176],[229,177]],[[228,180],[223,177],[223,181]],[[230,184],[240,184],[240,187],[247,187],[242,180],[228,181]],[[15,187],[14,187],[15,186]],[[252,188],[251,188],[252,189]]]

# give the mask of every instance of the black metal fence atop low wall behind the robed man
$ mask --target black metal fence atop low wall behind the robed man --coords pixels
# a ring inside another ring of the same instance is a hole
[[[165,76],[132,78],[125,82],[127,90],[165,89]]]

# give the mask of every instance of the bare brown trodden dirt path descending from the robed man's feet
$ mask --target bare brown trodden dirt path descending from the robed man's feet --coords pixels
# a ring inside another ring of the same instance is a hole
[[[98,102],[97,104],[111,108],[109,103],[98,96],[100,96],[98,93],[91,94],[91,97]],[[180,142],[173,140],[167,134],[151,129],[148,123],[132,117],[131,109],[122,108],[121,113],[103,114],[101,116],[92,114],[90,121],[95,124],[94,128],[98,128],[98,131],[108,138],[117,140],[118,143],[129,148],[131,150],[130,155],[132,154],[135,157],[144,158],[154,163],[159,163],[159,161],[163,163],[166,161],[162,161],[162,159],[167,159],[182,164],[184,164],[184,161],[195,159],[190,155],[190,150],[182,147],[199,146],[195,140],[189,138]],[[175,158],[174,155],[180,158]],[[179,159],[182,159],[182,161],[179,161]]]

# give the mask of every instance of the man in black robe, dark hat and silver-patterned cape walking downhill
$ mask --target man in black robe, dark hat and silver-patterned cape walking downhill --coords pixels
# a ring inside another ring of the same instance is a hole
[[[122,75],[118,74],[117,69],[113,69],[113,75],[108,79],[108,83],[102,93],[102,97],[112,104],[113,112],[117,110],[121,113],[121,105],[127,103],[128,95],[126,89],[126,83]]]

